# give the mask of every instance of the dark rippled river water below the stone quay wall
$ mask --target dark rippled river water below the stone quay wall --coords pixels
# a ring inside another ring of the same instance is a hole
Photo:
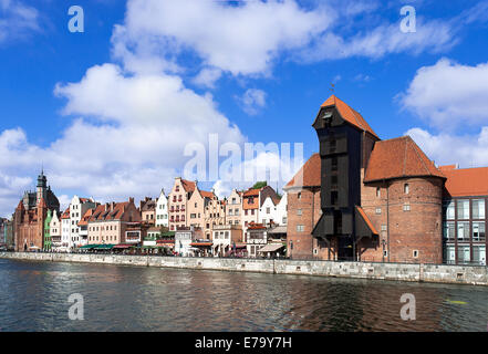
[[[69,320],[70,294],[84,321]],[[403,293],[416,321],[403,321]],[[0,259],[0,331],[487,331],[488,289]]]

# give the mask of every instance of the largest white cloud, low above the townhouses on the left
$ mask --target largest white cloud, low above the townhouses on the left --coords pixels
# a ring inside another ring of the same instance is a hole
[[[114,64],[93,66],[77,83],[58,84],[68,98],[63,114],[82,115],[48,147],[29,143],[21,129],[0,135],[0,167],[7,176],[32,176],[43,159],[55,190],[76,190],[97,200],[155,195],[180,175],[188,143],[241,144],[239,128],[216,108],[209,95],[186,88],[178,76],[126,75]],[[27,186],[11,186],[17,201]]]

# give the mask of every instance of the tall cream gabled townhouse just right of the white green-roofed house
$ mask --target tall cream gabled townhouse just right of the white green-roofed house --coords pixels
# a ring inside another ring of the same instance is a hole
[[[169,230],[175,231],[178,227],[186,227],[188,212],[187,205],[196,187],[195,181],[175,178],[172,191],[168,195]]]

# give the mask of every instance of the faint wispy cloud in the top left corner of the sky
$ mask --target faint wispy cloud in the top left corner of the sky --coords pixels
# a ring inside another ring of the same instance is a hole
[[[40,31],[39,11],[17,0],[0,0],[0,43]]]

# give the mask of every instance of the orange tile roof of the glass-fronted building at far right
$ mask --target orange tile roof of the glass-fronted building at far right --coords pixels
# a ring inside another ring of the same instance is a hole
[[[446,169],[446,166],[442,166],[439,168],[447,177],[445,190],[449,196],[488,196],[488,167]]]

